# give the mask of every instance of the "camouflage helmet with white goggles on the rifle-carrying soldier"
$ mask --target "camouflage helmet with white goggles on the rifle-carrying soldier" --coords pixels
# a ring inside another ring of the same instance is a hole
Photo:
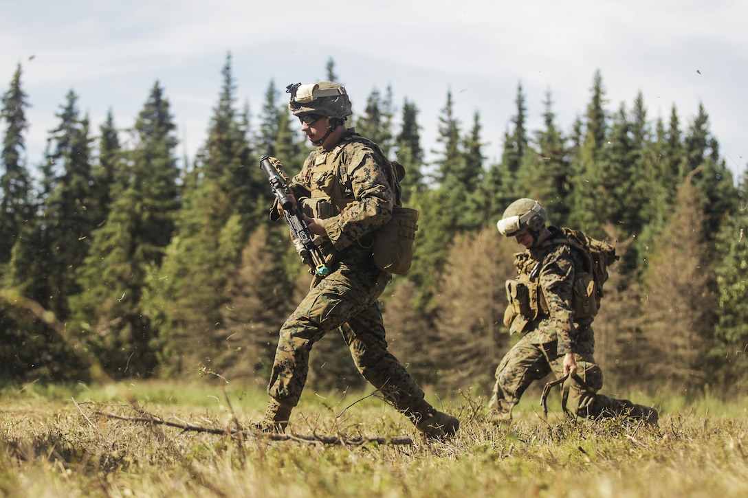
[[[294,116],[308,113],[345,120],[353,114],[346,88],[341,84],[333,82],[289,84],[286,92],[291,94],[288,108]]]

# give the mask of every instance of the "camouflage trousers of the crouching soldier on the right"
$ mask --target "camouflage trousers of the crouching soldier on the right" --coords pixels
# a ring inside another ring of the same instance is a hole
[[[502,358],[496,369],[496,384],[488,410],[496,411],[510,418],[512,408],[519,402],[522,394],[534,381],[539,381],[551,372],[557,378],[563,375],[563,356],[557,354],[555,341],[535,343],[530,332],[520,339]],[[568,380],[568,409],[586,418],[617,416],[626,414],[634,406],[626,399],[615,399],[598,394],[603,386],[603,372],[595,363],[593,346],[577,348],[574,354],[577,362],[577,376],[589,388]]]

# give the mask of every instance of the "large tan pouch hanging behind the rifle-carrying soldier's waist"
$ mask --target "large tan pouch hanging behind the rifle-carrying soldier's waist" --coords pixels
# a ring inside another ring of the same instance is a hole
[[[390,221],[374,231],[372,253],[377,268],[394,274],[404,274],[411,268],[418,214],[417,209],[392,207]]]

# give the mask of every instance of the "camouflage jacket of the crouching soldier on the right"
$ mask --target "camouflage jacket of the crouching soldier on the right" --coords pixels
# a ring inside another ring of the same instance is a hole
[[[551,237],[538,248],[525,251],[529,253],[531,262],[541,263],[539,285],[548,304],[548,316],[536,319],[533,324],[535,328],[530,334],[533,342],[557,341],[557,352],[563,355],[577,352],[577,325],[589,326],[592,319],[582,319],[584,324],[574,324],[574,271],[575,268],[583,268],[584,262],[571,246],[554,241],[563,236],[557,227],[549,227],[549,230]]]

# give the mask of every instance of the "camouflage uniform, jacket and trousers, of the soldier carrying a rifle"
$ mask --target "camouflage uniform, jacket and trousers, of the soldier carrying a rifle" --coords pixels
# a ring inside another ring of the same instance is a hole
[[[322,250],[331,272],[314,277],[310,292],[283,324],[268,393],[282,405],[295,406],[307,381],[312,346],[325,333],[340,329],[361,375],[418,424],[435,411],[387,351],[378,306],[391,276],[374,265],[371,233],[390,219],[393,191],[385,169],[389,163],[372,145],[349,129],[332,150],[313,151],[289,183],[302,209],[323,218],[329,241]],[[346,197],[342,202],[338,190]]]

